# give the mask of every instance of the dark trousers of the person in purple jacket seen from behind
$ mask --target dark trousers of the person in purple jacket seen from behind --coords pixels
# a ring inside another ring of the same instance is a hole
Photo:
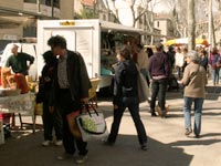
[[[166,91],[167,91],[167,80],[154,80],[151,84],[151,102],[150,102],[150,111],[155,112],[156,100],[158,96],[158,103],[161,112],[165,111],[166,103]]]

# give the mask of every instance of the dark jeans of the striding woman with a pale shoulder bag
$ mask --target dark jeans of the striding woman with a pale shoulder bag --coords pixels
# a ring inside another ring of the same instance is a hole
[[[108,136],[108,142],[110,142],[110,143],[116,142],[122,116],[123,116],[126,107],[128,107],[129,113],[133,117],[133,121],[134,121],[136,129],[137,129],[139,144],[140,145],[146,144],[147,143],[147,134],[146,134],[144,124],[140,120],[140,116],[139,116],[139,104],[138,104],[137,97],[123,97],[122,103],[117,104],[117,106],[118,106],[118,108],[114,110],[114,122],[112,124],[112,129],[110,129],[110,133]]]

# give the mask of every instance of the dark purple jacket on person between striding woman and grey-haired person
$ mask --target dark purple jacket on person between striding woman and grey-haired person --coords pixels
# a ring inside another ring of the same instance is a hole
[[[150,56],[148,71],[151,77],[162,75],[165,77],[169,77],[171,69],[169,65],[167,54],[162,52],[156,52],[152,56]]]

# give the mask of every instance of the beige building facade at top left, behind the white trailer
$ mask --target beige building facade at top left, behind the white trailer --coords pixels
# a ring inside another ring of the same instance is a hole
[[[38,19],[73,19],[74,0],[0,0],[0,49],[36,37]]]

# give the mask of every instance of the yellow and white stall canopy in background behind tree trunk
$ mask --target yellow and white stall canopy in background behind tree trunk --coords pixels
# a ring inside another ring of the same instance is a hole
[[[182,45],[182,44],[188,44],[188,38],[179,38],[179,39],[172,39],[168,40],[166,45]],[[207,39],[196,39],[196,44],[201,44],[204,46],[209,46],[209,43]]]

